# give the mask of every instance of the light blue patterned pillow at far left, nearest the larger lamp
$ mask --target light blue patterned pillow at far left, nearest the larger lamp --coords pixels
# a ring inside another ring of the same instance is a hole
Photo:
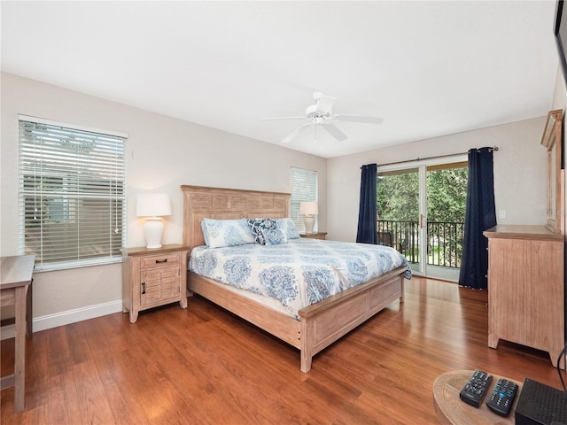
[[[239,220],[201,220],[205,243],[210,248],[245,245],[254,243],[246,219]]]

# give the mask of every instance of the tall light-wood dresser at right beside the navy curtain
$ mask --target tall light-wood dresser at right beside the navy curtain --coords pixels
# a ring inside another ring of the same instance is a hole
[[[564,345],[562,234],[544,226],[496,226],[488,238],[488,346],[504,339],[549,352]]]

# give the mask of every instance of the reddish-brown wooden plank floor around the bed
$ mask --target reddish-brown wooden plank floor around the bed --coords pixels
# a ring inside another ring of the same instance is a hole
[[[36,332],[26,410],[2,391],[3,424],[433,424],[435,378],[454,369],[559,388],[547,353],[487,347],[486,292],[414,277],[396,302],[315,356],[203,298]],[[13,339],[1,344],[12,373]]]

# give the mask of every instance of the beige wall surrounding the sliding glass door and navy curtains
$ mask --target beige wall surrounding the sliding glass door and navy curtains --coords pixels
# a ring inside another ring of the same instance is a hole
[[[455,135],[405,143],[328,160],[330,239],[354,241],[358,223],[361,166],[387,164],[436,155],[452,155],[471,148],[498,146],[494,152],[496,211],[505,210],[501,224],[545,224],[546,151],[540,145],[546,118],[513,122]]]

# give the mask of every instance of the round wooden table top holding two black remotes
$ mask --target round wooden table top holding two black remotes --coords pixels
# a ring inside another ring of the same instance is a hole
[[[489,389],[485,393],[485,398],[479,407],[467,405],[459,397],[473,370],[454,370],[447,372],[439,377],[433,383],[433,400],[435,403],[435,410],[439,416],[439,421],[447,425],[503,425],[516,423],[514,420],[514,411],[516,410],[517,399],[519,398],[520,391],[522,390],[522,383],[518,383],[509,379],[519,386],[514,405],[510,410],[508,417],[504,418],[496,413],[493,413],[485,404],[486,400],[490,397],[498,378],[502,376],[493,375],[493,382],[490,384]]]

